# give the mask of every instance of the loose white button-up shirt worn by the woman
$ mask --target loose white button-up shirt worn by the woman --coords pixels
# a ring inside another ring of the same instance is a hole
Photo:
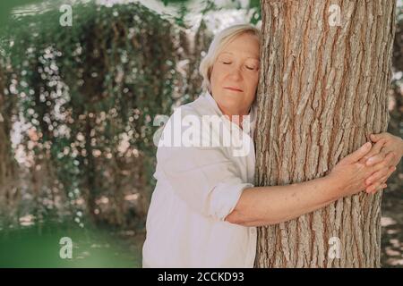
[[[179,111],[180,118],[223,115],[215,99],[204,92],[176,109],[165,125],[164,137],[172,132],[167,126],[171,126],[169,123]],[[234,144],[158,147],[154,173],[157,185],[147,215],[143,267],[253,267],[256,227],[224,221],[242,191],[254,183],[255,151],[250,135],[254,130],[255,105],[249,115],[248,133],[245,127],[241,130],[234,122],[223,120],[248,139],[250,152],[246,156],[234,156]],[[177,138],[178,133],[175,134]]]

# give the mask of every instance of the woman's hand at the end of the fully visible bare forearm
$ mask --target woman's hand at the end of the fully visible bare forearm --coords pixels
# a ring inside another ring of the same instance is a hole
[[[370,151],[373,153],[374,150],[378,150],[379,152],[381,148],[382,142],[378,145],[375,144],[373,148],[371,142],[366,142],[362,147],[341,159],[339,163],[334,166],[329,176],[332,177],[336,183],[339,183],[339,189],[342,192],[339,194],[340,196],[351,196],[366,189],[367,184],[365,180],[374,172],[389,172],[390,162],[395,156],[394,152],[388,153],[383,160],[377,164],[371,166],[365,164],[366,156],[370,154]],[[381,186],[380,189],[386,188],[383,183],[379,185]]]

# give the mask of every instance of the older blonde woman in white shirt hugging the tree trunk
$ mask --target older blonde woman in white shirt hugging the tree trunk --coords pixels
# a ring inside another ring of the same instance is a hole
[[[201,62],[205,92],[177,108],[165,125],[164,140],[184,139],[184,125],[216,116],[222,126],[249,138],[242,140],[248,152],[236,155],[236,137],[229,146],[159,144],[143,267],[253,267],[257,226],[286,222],[359,191],[383,189],[396,169],[403,140],[382,133],[372,135],[373,146],[367,142],[325,177],[254,187],[259,35],[244,24],[222,30]],[[177,124],[172,128],[175,118],[186,122],[179,130]],[[222,139],[220,131],[212,136]],[[208,133],[199,133],[203,142]]]

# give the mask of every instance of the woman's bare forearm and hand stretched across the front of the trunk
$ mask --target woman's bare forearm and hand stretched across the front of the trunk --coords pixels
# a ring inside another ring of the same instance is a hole
[[[385,169],[394,158],[390,153],[382,162],[368,166],[362,159],[370,150],[368,142],[343,158],[323,178],[286,186],[244,189],[235,209],[225,220],[244,226],[282,223],[364,190],[365,179]]]

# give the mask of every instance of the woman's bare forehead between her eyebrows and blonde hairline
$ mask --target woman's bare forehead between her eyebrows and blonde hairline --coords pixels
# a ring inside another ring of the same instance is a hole
[[[259,60],[259,40],[250,34],[239,35],[223,46],[219,55],[236,55]]]

